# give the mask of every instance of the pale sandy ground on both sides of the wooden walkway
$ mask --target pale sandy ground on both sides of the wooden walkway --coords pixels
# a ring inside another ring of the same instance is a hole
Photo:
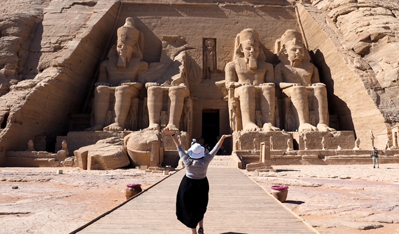
[[[210,167],[231,165],[229,156],[216,156]],[[273,168],[247,174],[267,191],[288,185],[284,205],[320,233],[399,234],[399,164]],[[124,202],[126,184],[145,189],[164,177],[138,169],[0,168],[0,234],[70,233]]]

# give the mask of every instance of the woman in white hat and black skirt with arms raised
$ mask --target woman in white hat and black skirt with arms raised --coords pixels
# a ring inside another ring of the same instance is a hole
[[[198,143],[194,143],[186,153],[173,131],[164,128],[164,132],[172,136],[186,168],[186,175],[183,176],[177,192],[177,219],[190,228],[192,234],[197,234],[197,226],[199,226],[198,234],[203,234],[203,216],[209,200],[209,182],[206,172],[210,161],[222,146],[224,138],[231,135],[222,135],[215,147],[205,154],[205,149]]]

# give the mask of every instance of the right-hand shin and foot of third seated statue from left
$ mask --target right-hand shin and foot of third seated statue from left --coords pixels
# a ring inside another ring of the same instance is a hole
[[[276,110],[275,88],[274,86],[261,86],[260,107],[263,122],[263,131],[280,131],[274,126],[274,116]]]

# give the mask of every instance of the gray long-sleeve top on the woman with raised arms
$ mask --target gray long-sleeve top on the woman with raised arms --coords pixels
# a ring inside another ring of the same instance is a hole
[[[200,159],[192,159],[186,154],[182,145],[177,147],[179,156],[182,159],[184,166],[186,168],[186,176],[192,179],[203,179],[206,177],[206,171],[210,161],[215,157],[216,152],[219,150],[219,144],[216,144],[213,149]],[[190,165],[190,166],[188,166]]]

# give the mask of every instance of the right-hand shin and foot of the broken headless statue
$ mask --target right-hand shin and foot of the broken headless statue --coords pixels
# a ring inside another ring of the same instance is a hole
[[[169,111],[169,123],[167,127],[170,130],[179,130],[180,118],[183,113],[184,99],[190,95],[190,91],[185,87],[170,87],[169,98],[171,101]]]

